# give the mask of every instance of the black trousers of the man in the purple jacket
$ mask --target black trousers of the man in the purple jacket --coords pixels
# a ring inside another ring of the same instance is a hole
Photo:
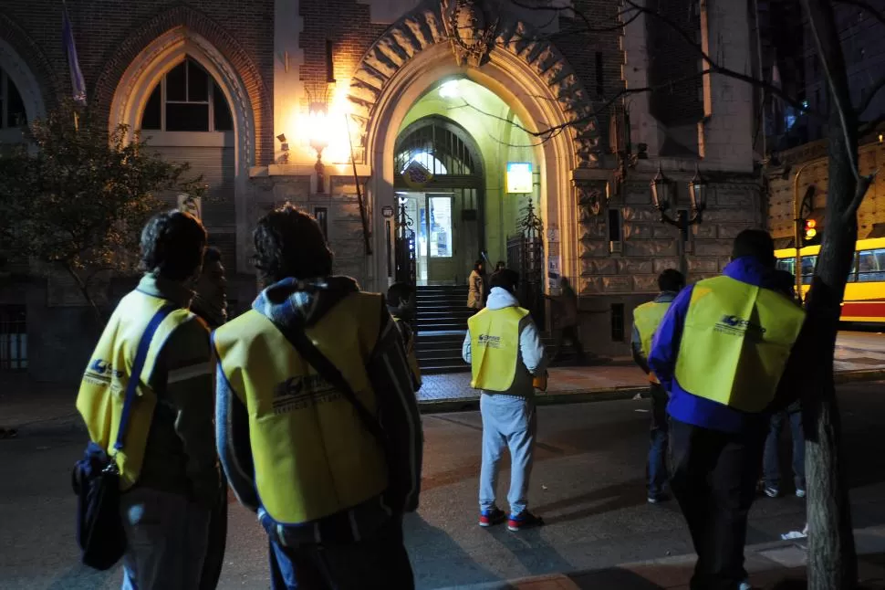
[[[670,487],[698,561],[692,590],[735,590],[744,570],[746,520],[762,468],[765,420],[737,434],[670,419]]]

